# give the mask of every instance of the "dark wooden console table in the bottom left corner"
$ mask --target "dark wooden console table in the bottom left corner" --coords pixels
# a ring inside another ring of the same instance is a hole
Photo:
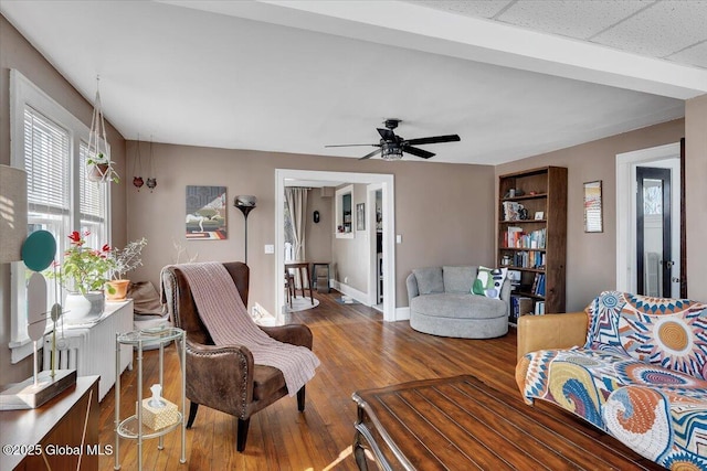
[[[97,470],[113,452],[98,443],[99,414],[98,376],[78,376],[36,409],[0,411],[0,469]]]

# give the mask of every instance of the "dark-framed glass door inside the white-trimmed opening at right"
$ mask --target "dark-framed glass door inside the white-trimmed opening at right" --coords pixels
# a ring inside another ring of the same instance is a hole
[[[673,281],[671,169],[636,168],[636,287],[640,295],[676,298]]]

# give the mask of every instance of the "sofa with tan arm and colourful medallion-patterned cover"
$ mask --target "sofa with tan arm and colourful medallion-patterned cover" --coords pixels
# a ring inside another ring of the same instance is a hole
[[[524,399],[562,407],[673,470],[707,470],[707,304],[604,291],[518,322]]]

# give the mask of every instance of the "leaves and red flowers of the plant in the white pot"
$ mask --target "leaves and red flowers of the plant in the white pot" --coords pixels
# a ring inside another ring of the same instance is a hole
[[[110,270],[116,266],[110,256],[112,248],[105,244],[101,249],[85,247],[85,237],[89,232],[80,234],[74,231],[70,236],[71,246],[64,253],[64,261],[55,263],[53,269],[48,270],[49,278],[56,278],[68,291],[86,295],[88,291],[101,291],[110,279]],[[108,292],[113,288],[108,287]]]

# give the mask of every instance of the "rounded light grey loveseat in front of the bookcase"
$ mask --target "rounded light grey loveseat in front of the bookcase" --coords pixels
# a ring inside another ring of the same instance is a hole
[[[505,269],[418,268],[405,282],[410,327],[419,332],[461,339],[490,339],[508,332],[510,281]],[[478,295],[473,292],[475,283]]]

